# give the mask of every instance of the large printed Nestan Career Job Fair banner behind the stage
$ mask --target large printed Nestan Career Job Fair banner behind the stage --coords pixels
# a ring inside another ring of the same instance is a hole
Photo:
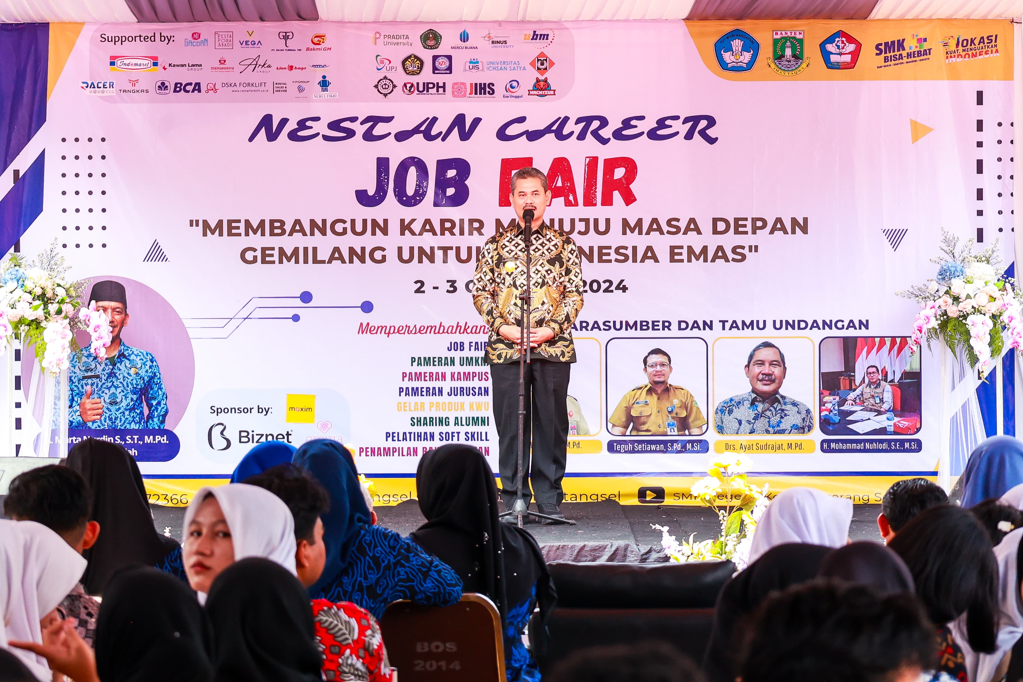
[[[77,32],[20,247],[123,291],[72,436],[125,444],[153,501],[269,440],[349,445],[384,504],[444,443],[496,469],[471,286],[527,166],[585,279],[568,501],[691,502],[724,453],[861,502],[934,474],[937,363],[895,291],[942,226],[1011,254],[1009,21]]]

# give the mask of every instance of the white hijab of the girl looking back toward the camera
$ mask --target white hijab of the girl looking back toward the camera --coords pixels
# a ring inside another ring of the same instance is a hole
[[[283,500],[259,486],[232,483],[217,488],[202,488],[185,511],[184,540],[188,541],[188,525],[195,510],[213,496],[224,512],[224,519],[231,531],[234,560],[261,556],[287,569],[297,576],[295,567],[295,517]],[[206,601],[202,592],[199,601]]]

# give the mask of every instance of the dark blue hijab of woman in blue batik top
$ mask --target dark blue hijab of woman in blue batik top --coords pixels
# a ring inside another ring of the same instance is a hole
[[[352,544],[359,532],[369,525],[369,508],[362,497],[362,485],[355,460],[345,446],[337,441],[309,441],[295,453],[296,466],[309,471],[330,496],[330,510],[323,514],[323,543],[326,564],[323,575],[309,588],[316,594],[332,583],[348,564]]]

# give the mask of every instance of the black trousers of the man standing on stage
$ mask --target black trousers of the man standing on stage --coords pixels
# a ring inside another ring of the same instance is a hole
[[[569,393],[567,362],[534,358],[526,365],[526,419],[523,466],[523,498],[529,504],[561,504],[569,438]],[[505,507],[515,504],[519,487],[519,363],[491,365],[494,424],[500,444],[501,499]],[[532,428],[531,428],[532,426]],[[532,441],[532,457],[530,442]],[[532,467],[530,466],[532,464]],[[532,493],[530,486],[532,485]]]

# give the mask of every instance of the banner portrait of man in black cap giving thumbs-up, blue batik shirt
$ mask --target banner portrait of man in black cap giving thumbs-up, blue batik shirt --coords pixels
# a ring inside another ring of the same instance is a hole
[[[88,300],[106,314],[113,339],[105,360],[97,360],[88,351],[72,355],[68,426],[163,428],[167,391],[160,365],[151,353],[121,338],[129,319],[124,284],[109,279],[96,282]]]

